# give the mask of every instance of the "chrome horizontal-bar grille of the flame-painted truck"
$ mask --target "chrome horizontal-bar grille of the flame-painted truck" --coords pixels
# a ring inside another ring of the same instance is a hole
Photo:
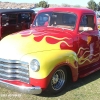
[[[0,59],[0,78],[29,83],[28,63],[18,60]]]

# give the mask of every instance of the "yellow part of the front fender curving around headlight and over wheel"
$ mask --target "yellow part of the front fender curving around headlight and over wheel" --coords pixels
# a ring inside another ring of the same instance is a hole
[[[34,79],[43,79],[49,76],[49,74],[55,69],[55,67],[60,64],[66,63],[70,66],[72,73],[78,69],[77,62],[78,58],[74,51],[72,50],[51,50],[27,54],[21,60],[30,61],[32,59],[37,59],[40,63],[40,70],[34,72],[29,68],[29,75]]]

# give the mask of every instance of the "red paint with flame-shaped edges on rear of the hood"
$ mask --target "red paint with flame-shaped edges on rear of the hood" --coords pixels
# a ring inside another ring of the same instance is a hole
[[[64,33],[62,31],[54,33],[53,31],[49,32],[35,32],[35,34],[33,32],[28,31],[23,31],[21,33],[21,36],[26,37],[33,34],[34,35],[34,40],[36,42],[41,42],[44,38],[46,39],[46,42],[48,44],[57,44],[59,42],[61,42],[60,44],[60,48],[61,49],[68,49],[70,47],[72,47],[72,39],[70,37],[70,35],[68,35],[67,33]]]

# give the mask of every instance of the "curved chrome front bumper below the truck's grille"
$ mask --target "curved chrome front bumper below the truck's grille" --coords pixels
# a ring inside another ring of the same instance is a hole
[[[42,89],[40,87],[18,86],[1,80],[0,80],[0,86],[16,92],[27,93],[27,94],[40,94],[42,92]]]

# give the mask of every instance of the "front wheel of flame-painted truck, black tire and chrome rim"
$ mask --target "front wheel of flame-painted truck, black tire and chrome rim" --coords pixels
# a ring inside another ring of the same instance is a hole
[[[66,85],[67,71],[64,67],[57,69],[48,85],[47,91],[49,94],[59,93]]]

